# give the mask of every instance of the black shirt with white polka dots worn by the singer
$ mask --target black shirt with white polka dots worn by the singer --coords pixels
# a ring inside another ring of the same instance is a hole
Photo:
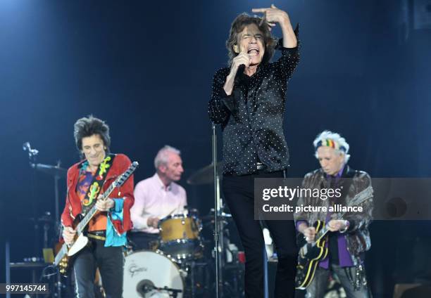
[[[230,96],[223,89],[230,68],[214,74],[208,114],[223,130],[224,174],[252,174],[258,162],[266,171],[289,167],[283,118],[287,82],[299,63],[299,51],[280,44],[281,39],[277,61],[262,63],[251,77],[237,74]]]

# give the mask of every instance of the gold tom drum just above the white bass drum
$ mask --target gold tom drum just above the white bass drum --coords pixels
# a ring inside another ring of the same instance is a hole
[[[160,250],[174,259],[199,257],[202,252],[200,221],[196,216],[175,214],[159,221]]]

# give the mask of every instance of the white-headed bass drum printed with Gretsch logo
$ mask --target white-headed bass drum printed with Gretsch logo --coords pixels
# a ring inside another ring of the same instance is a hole
[[[158,291],[154,287],[181,290],[177,298],[182,298],[185,285],[178,266],[163,254],[149,250],[125,257],[123,298],[171,297],[168,290]]]

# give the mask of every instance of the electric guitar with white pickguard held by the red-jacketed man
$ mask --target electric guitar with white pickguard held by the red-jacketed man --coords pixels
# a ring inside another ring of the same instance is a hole
[[[113,192],[114,188],[123,186],[125,181],[129,179],[129,177],[133,174],[133,172],[138,167],[138,162],[132,162],[130,164],[130,167],[120,176],[118,176],[113,183],[111,183],[111,186],[108,187],[108,189],[102,194],[102,197],[99,200],[106,200],[109,195]],[[96,214],[98,210],[96,209],[96,205],[94,204],[91,209],[85,214],[85,216],[77,216],[76,220],[77,223],[74,223],[74,228],[76,231],[75,238],[70,245],[63,244],[61,246],[61,249],[56,254],[56,257],[54,259],[54,266],[58,266],[58,271],[60,271],[61,274],[65,275],[68,269],[68,263],[70,257],[72,257],[74,254],[82,250],[87,243],[88,238],[84,235],[85,228],[87,227],[87,224],[89,223],[90,219]],[[80,219],[81,218],[81,219]]]

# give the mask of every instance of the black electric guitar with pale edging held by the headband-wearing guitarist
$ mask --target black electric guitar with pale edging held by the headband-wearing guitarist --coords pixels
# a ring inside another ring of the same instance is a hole
[[[347,206],[361,205],[366,200],[369,200],[372,195],[373,188],[368,187],[355,195]],[[346,212],[342,212],[335,219],[342,219],[344,214]],[[327,241],[325,235],[329,232],[329,229],[325,225],[325,221],[316,221],[313,226],[316,228],[315,240],[306,242],[304,237],[301,237],[301,244],[299,245],[301,248],[299,249],[298,264],[296,266],[295,287],[300,290],[304,290],[310,285],[319,262],[325,259],[328,253],[327,247],[325,247]]]

